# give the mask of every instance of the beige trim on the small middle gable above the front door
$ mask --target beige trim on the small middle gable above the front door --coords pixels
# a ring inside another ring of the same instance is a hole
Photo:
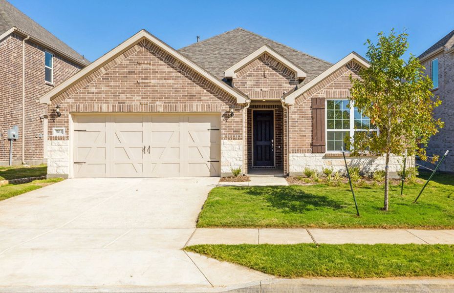
[[[305,78],[307,76],[307,74],[303,71],[303,69],[301,69],[300,67],[298,67],[297,65],[292,63],[290,60],[288,60],[287,58],[283,57],[281,54],[279,54],[275,50],[271,49],[267,45],[264,45],[261,48],[259,48],[258,50],[252,52],[251,54],[249,54],[248,56],[246,56],[245,58],[240,60],[238,63],[234,64],[232,67],[230,67],[229,69],[224,71],[224,76],[226,78],[237,78],[236,72],[239,69],[243,68],[247,64],[249,64],[252,61],[256,60],[257,58],[259,58],[264,53],[269,54],[271,57],[273,57],[274,59],[278,60],[280,63],[284,64],[286,67],[288,67],[291,70],[293,70],[296,73],[298,79],[303,79],[303,78]]]

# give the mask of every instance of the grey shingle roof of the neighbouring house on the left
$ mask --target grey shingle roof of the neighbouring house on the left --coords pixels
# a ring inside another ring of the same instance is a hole
[[[0,0],[0,34],[3,34],[12,27],[17,27],[29,34],[31,37],[39,39],[56,49],[64,52],[82,64],[88,65],[90,62],[74,51],[67,44],[52,35],[49,31],[23,14],[6,0]]]

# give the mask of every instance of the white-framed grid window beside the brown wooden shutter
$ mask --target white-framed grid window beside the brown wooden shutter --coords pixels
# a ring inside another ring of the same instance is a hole
[[[326,150],[341,151],[344,138],[355,136],[357,131],[378,131],[353,105],[348,105],[346,99],[326,100]]]

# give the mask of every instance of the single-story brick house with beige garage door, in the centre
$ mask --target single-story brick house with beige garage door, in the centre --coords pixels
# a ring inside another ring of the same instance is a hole
[[[242,28],[180,50],[142,30],[40,98],[48,176],[344,170],[343,137],[371,128],[347,107],[349,76],[365,66],[354,52],[331,64]],[[384,159],[348,161],[371,172]]]

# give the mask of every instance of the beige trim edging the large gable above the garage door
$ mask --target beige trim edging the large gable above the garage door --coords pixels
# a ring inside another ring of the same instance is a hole
[[[76,84],[83,78],[85,78],[87,75],[91,74],[93,71],[97,70],[104,64],[108,63],[112,59],[116,58],[118,55],[126,51],[128,48],[133,46],[134,44],[142,41],[142,40],[148,40],[155,44],[156,46],[160,47],[163,49],[166,53],[172,55],[174,58],[178,59],[182,63],[186,64],[188,67],[191,69],[195,70],[197,73],[208,79],[210,82],[213,84],[216,84],[219,86],[222,90],[227,92],[228,94],[232,95],[233,97],[237,98],[237,103],[238,104],[244,104],[246,103],[246,96],[242,95],[235,89],[233,89],[231,86],[225,84],[224,82],[218,80],[215,76],[213,76],[211,73],[203,69],[202,67],[198,66],[197,64],[193,63],[181,53],[173,49],[171,46],[166,44],[165,42],[162,42],[158,38],[154,37],[151,35],[149,32],[146,30],[141,30],[132,37],[130,37],[128,40],[125,42],[122,42],[119,44],[117,47],[106,53],[105,55],[101,56],[98,58],[96,61],[90,63],[88,66],[86,66],[84,69],[67,79],[65,82],[59,84],[58,86],[54,87],[52,90],[48,91],[46,94],[44,94],[40,99],[39,102],[42,104],[50,104],[50,101],[63,93],[67,88],[72,86],[73,84]]]

